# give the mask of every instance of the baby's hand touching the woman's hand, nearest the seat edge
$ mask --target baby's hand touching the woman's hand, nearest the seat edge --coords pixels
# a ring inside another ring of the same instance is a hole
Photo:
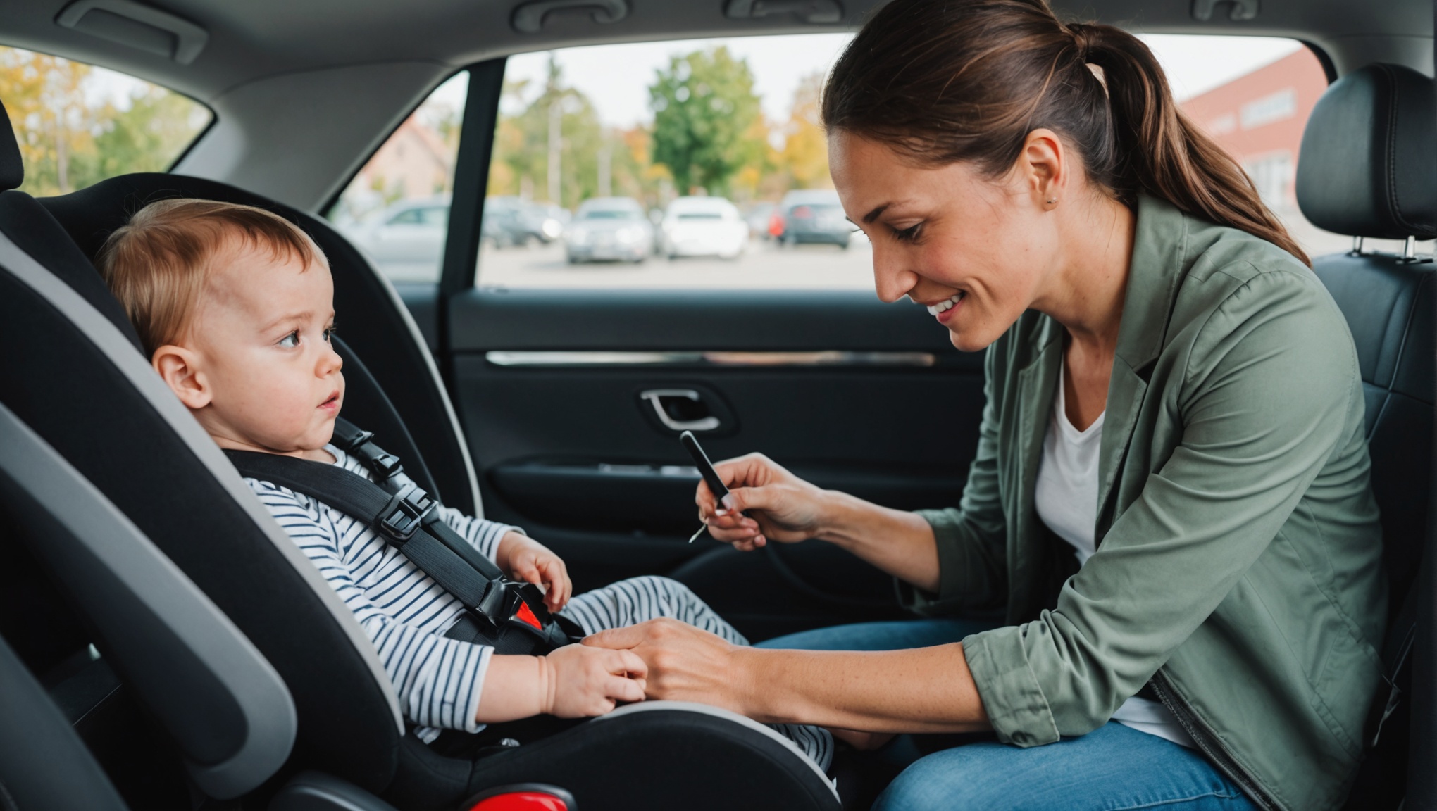
[[[543,711],[559,718],[611,712],[618,702],[644,700],[648,667],[632,650],[566,644],[539,657]]]

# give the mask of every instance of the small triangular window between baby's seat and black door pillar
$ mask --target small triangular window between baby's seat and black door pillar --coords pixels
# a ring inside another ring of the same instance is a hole
[[[440,278],[467,93],[468,72],[440,85],[328,211],[339,233],[394,281]],[[493,204],[486,201],[484,210]]]

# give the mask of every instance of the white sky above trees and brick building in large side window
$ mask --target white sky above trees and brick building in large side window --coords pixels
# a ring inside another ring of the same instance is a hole
[[[601,44],[555,52],[565,82],[586,95],[609,126],[629,128],[652,118],[648,85],[670,56],[727,44],[749,60],[754,90],[770,121],[786,121],[800,78],[833,65],[852,34],[754,36],[632,44]],[[1178,99],[1223,85],[1302,47],[1289,39],[1142,34],[1168,73]],[[549,52],[509,57],[507,78],[543,86]]]

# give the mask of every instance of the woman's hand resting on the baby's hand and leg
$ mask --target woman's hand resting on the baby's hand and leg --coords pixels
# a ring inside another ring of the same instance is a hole
[[[583,644],[638,655],[648,666],[644,693],[651,699],[703,702],[739,713],[749,708],[736,657],[752,649],[706,630],[665,617],[601,630]]]

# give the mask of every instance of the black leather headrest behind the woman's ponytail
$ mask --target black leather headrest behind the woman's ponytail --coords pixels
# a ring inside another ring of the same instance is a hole
[[[1338,79],[1302,133],[1298,205],[1316,227],[1354,237],[1437,237],[1433,80],[1400,65]]]

